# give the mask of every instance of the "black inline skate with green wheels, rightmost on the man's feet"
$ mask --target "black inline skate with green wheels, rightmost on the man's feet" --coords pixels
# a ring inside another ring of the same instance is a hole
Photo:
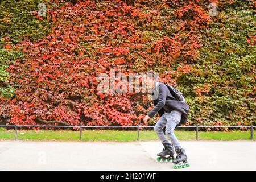
[[[172,160],[172,163],[174,163],[175,169],[185,168],[189,167],[190,164],[188,163],[188,158],[185,153],[185,150],[183,148],[175,149],[175,152],[177,153],[176,159]]]

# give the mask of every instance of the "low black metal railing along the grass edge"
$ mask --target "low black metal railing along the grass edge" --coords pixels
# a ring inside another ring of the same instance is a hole
[[[0,125],[0,127],[14,127],[15,129],[15,140],[18,136],[18,127],[60,127],[60,128],[79,128],[80,129],[80,140],[82,140],[82,129],[86,128],[134,128],[137,129],[137,140],[139,140],[139,129],[141,128],[154,128],[154,126],[55,126],[55,125]],[[250,139],[253,139],[253,128],[256,126],[178,126],[178,128],[195,128],[196,129],[196,140],[199,139],[200,128],[250,128]]]

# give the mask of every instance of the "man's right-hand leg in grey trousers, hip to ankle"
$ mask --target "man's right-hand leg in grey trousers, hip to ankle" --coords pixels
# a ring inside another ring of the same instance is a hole
[[[166,113],[166,135],[168,136],[168,138],[170,138],[172,144],[174,144],[175,149],[181,148],[179,140],[177,140],[174,134],[174,129],[176,125],[180,122],[181,114],[182,113],[177,110],[173,110],[171,111],[171,113]]]

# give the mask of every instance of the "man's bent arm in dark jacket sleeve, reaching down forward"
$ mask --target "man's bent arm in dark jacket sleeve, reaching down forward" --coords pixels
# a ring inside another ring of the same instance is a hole
[[[165,87],[165,85],[159,84],[158,104],[156,104],[154,109],[147,114],[150,118],[153,118],[154,115],[166,104],[167,90]]]

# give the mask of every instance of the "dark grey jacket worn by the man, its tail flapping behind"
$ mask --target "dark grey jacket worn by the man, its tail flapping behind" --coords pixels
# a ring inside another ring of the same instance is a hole
[[[168,85],[155,82],[154,94],[158,93],[158,97],[153,100],[155,107],[148,113],[148,116],[153,118],[156,113],[159,113],[161,117],[164,112],[170,113],[172,110],[179,110],[182,113],[179,125],[185,124],[188,118],[189,106],[185,101],[175,100],[169,89]]]

